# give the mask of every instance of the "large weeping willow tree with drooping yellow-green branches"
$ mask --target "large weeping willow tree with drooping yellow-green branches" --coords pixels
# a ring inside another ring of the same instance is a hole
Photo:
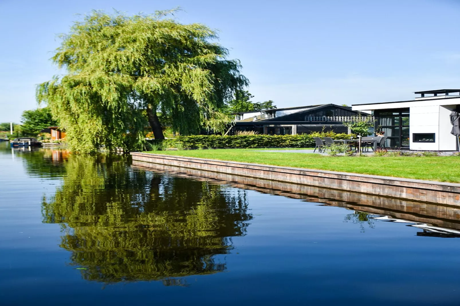
[[[72,150],[136,147],[146,120],[163,139],[158,114],[183,135],[225,129],[230,119],[219,109],[248,84],[240,63],[213,42],[215,31],[178,23],[167,17],[172,12],[93,11],[60,36],[52,61],[66,74],[38,85],[37,99],[52,109]]]

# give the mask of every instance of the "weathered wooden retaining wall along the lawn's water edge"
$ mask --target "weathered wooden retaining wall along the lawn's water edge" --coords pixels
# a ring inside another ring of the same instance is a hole
[[[132,159],[413,201],[460,206],[460,184],[132,152]]]

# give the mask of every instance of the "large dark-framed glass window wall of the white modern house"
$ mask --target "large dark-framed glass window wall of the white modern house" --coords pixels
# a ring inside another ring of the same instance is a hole
[[[388,138],[385,147],[409,147],[409,109],[396,108],[374,111],[377,125]]]

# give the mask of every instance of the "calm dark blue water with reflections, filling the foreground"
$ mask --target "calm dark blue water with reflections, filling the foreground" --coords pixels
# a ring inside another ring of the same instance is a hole
[[[0,305],[460,304],[453,209],[0,145]]]

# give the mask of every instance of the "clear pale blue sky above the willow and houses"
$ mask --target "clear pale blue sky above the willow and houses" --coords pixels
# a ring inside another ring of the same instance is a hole
[[[56,34],[75,14],[176,6],[179,21],[220,30],[254,102],[351,105],[460,88],[459,0],[0,0],[0,122],[36,108],[35,85],[59,73]]]

